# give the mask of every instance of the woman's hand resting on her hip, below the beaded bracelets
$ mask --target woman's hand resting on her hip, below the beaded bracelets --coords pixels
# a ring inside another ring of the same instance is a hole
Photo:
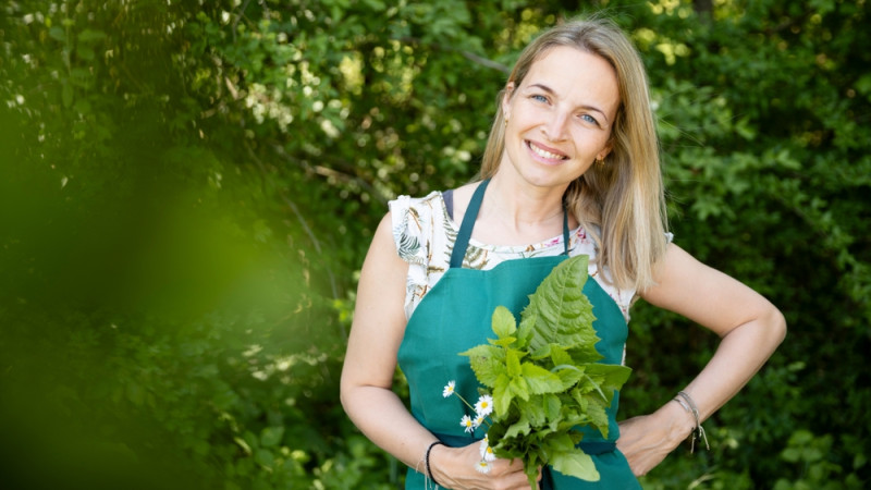
[[[617,449],[626,456],[635,476],[647,475],[689,437],[692,416],[673,402],[650,415],[619,422]]]

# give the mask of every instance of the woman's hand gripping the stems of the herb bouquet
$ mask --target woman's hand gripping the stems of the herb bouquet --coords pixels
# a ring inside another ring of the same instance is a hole
[[[480,442],[465,448],[436,445],[430,451],[429,467],[432,477],[442,488],[464,490],[530,490],[529,480],[524,473],[520,460],[500,460],[490,462],[490,471],[480,473]],[[538,471],[541,480],[541,468]]]

